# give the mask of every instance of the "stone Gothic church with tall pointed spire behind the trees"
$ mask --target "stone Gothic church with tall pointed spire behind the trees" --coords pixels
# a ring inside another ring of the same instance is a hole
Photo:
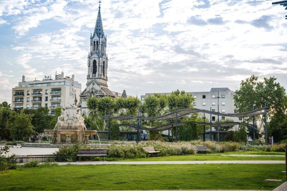
[[[101,19],[101,6],[96,21],[94,33],[90,37],[90,52],[88,53],[88,75],[86,88],[80,94],[80,102],[77,107],[81,107],[82,115],[89,115],[90,110],[87,108],[87,100],[89,97],[105,97],[110,96],[112,99],[118,96],[126,98],[126,91],[118,93],[108,88],[108,65],[109,59],[106,53],[107,36],[103,30]]]

